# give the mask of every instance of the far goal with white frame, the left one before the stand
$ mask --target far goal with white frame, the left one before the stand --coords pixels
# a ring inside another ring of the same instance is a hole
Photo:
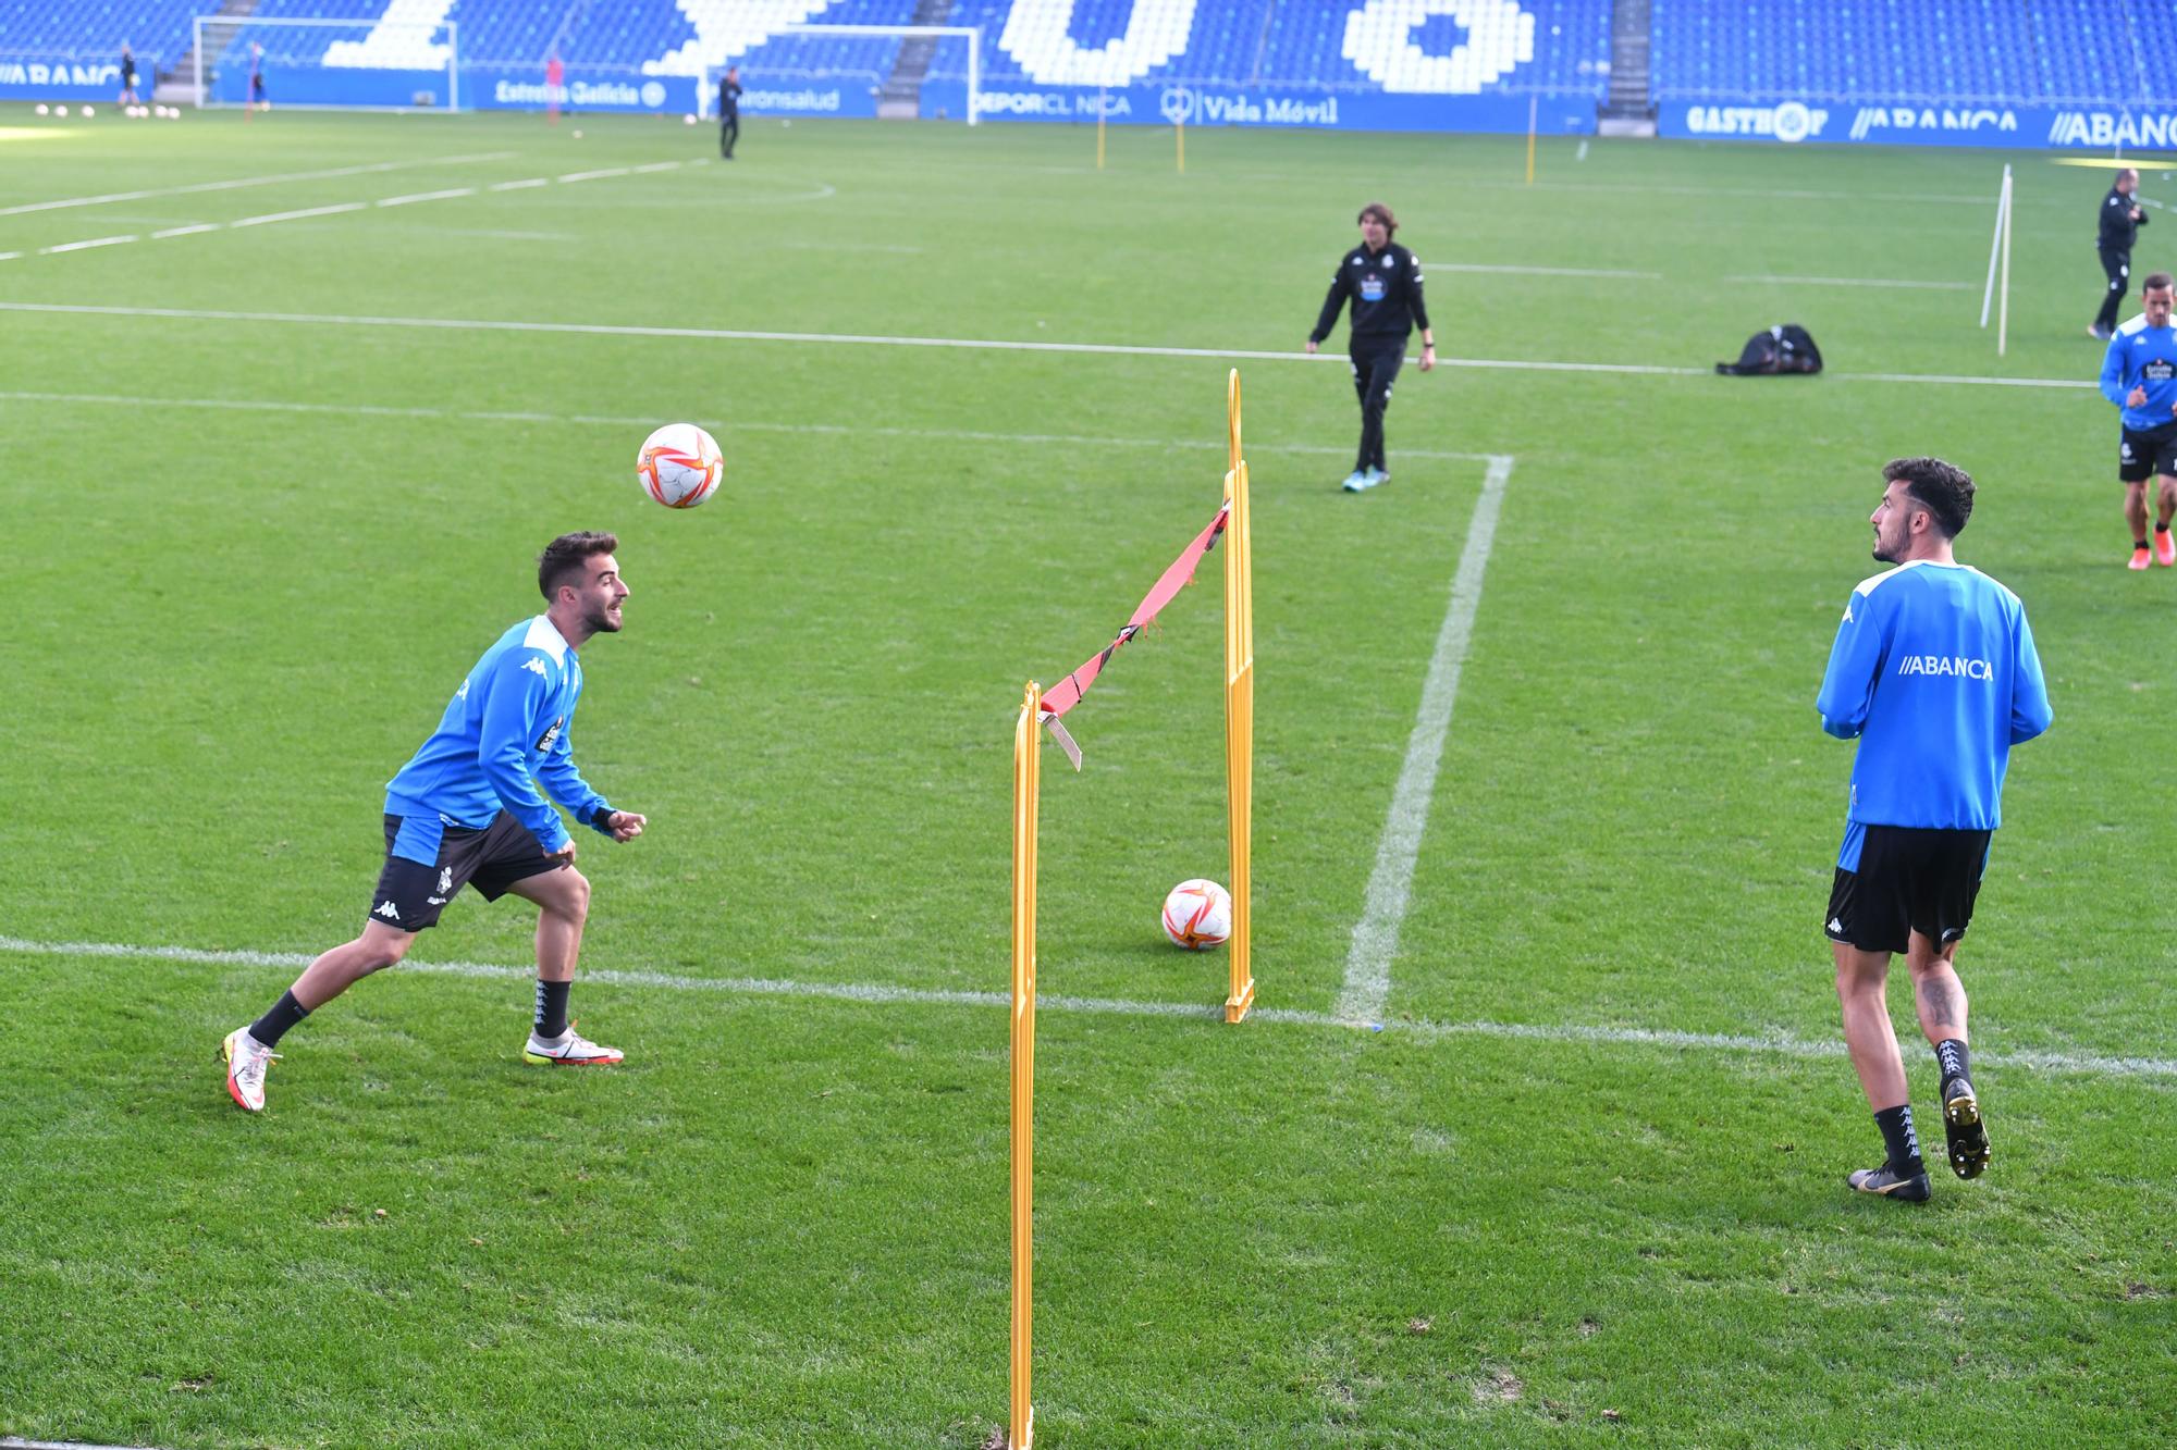
[[[198,15],[192,65],[200,107],[459,111],[455,22]],[[257,89],[261,83],[261,91]]]

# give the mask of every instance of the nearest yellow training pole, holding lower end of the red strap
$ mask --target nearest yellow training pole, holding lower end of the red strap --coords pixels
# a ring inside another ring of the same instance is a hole
[[[1034,1319],[1036,1193],[1036,766],[1043,760],[1043,690],[1028,681],[1012,727],[1012,1391],[1008,1450],[1036,1441],[1028,1402],[1028,1345]]]

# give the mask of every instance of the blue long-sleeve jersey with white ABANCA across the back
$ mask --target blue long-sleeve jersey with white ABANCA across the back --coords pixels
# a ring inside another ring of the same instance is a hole
[[[2012,747],[2051,721],[2018,594],[1929,560],[1859,581],[1816,710],[1829,734],[1859,738],[1846,869],[1866,825],[1996,830]]]

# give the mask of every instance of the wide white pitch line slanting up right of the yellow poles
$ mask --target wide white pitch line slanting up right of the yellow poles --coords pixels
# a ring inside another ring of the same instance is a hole
[[[1376,843],[1376,869],[1367,877],[1367,897],[1354,923],[1352,947],[1345,954],[1345,986],[1339,991],[1339,1021],[1374,1025],[1382,1021],[1391,997],[1391,958],[1398,956],[1398,927],[1406,921],[1413,893],[1413,867],[1422,858],[1422,834],[1428,830],[1428,801],[1437,790],[1437,766],[1443,764],[1443,736],[1450,734],[1452,705],[1459,703],[1459,671],[1474,640],[1474,614],[1483,603],[1483,573],[1489,568],[1489,546],[1496,542],[1496,520],[1504,507],[1504,486],[1511,481],[1511,459],[1489,459],[1483,494],[1474,501],[1467,523],[1467,546],[1459,555],[1452,579],[1452,601],[1437,631],[1437,653],[1428,660],[1422,684],[1422,710],[1406,740],[1406,764],[1391,790],[1391,810]]]

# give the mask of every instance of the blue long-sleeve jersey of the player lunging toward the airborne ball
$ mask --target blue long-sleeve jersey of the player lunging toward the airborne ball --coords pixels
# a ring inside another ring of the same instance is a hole
[[[581,699],[581,660],[538,614],[507,629],[468,671],[422,749],[385,782],[385,814],[429,823],[403,830],[396,856],[438,858],[435,825],[488,827],[505,808],[546,851],[566,825],[538,786],[575,819],[607,832],[612,808],[575,769],[568,736]]]

